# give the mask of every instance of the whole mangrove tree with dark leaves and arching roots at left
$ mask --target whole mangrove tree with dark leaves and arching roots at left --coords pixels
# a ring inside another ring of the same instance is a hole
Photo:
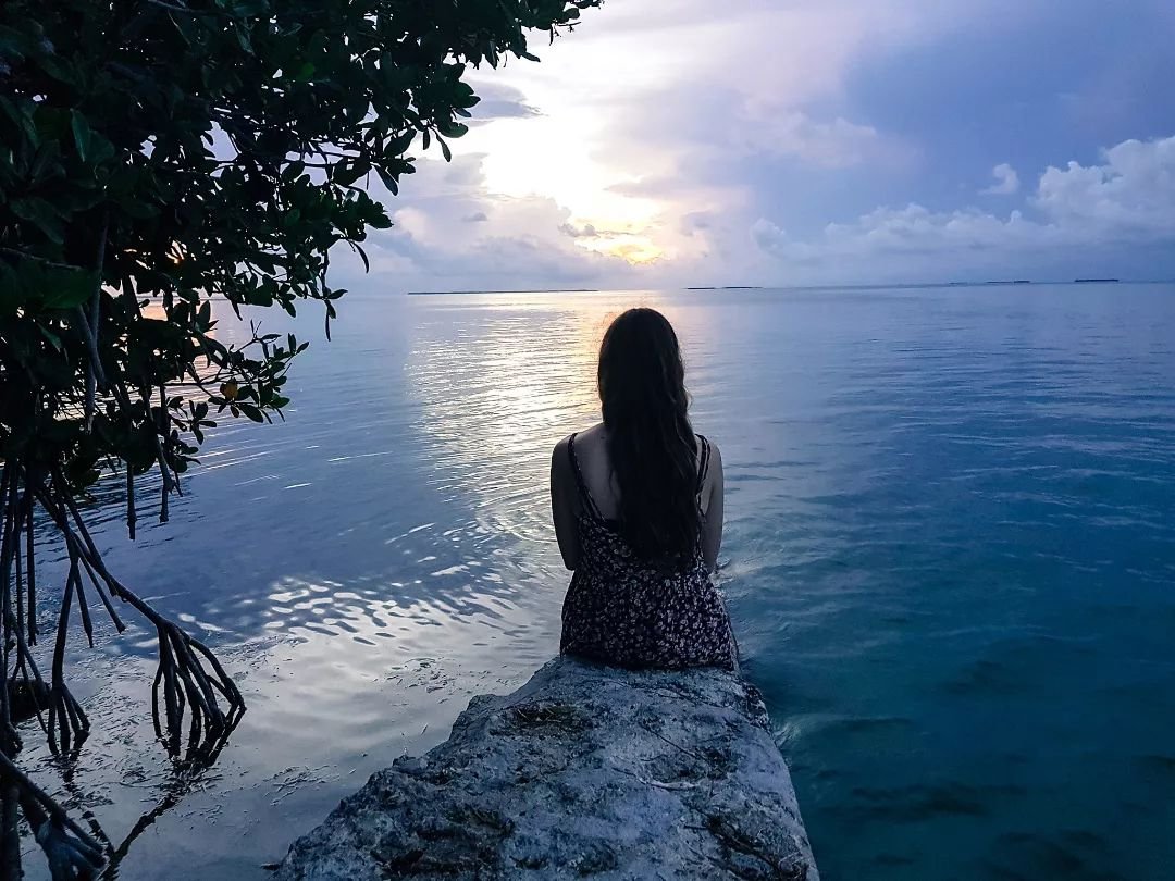
[[[213,336],[210,298],[294,314],[318,301],[327,336],[345,291],[336,247],[390,226],[409,150],[459,137],[470,66],[537,60],[600,0],[4,0],[0,5],[0,877],[20,874],[22,815],[54,876],[103,847],[18,767],[36,715],[74,753],[88,729],[65,655],[96,599],[155,627],[155,727],[212,754],[243,709],[215,655],[137,598],[86,527],[87,490],[125,482],[130,538],[142,484],[168,498],[213,418],[280,416],[293,336]],[[60,533],[68,577],[41,633],[35,529]],[[53,637],[48,681],[38,663]]]

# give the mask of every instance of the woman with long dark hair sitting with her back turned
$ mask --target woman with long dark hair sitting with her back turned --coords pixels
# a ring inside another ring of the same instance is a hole
[[[560,651],[623,667],[731,670],[737,648],[710,579],[723,539],[723,460],[694,435],[677,335],[631,309],[599,351],[604,422],[551,458],[551,510],[575,572]]]

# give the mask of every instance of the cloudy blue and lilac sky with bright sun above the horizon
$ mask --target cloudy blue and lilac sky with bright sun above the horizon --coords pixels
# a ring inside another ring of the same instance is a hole
[[[606,0],[470,72],[342,281],[1175,278],[1171,46],[1170,0]]]

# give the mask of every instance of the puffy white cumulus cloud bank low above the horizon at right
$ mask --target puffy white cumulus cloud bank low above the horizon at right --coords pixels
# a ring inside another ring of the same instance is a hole
[[[1126,141],[1102,159],[1088,167],[1049,167],[1026,210],[1007,216],[912,203],[830,223],[812,240],[793,238],[760,217],[751,238],[785,264],[874,271],[887,265],[982,268],[1026,257],[1063,261],[1114,244],[1175,244],[1175,137]]]

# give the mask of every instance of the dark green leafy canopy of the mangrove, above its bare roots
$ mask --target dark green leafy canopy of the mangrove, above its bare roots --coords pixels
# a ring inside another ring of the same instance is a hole
[[[35,446],[75,487],[106,456],[182,471],[207,403],[280,410],[302,345],[226,347],[208,298],[322,301],[329,334],[330,248],[390,224],[369,175],[396,193],[418,136],[448,157],[478,100],[468,66],[533,59],[528,29],[553,38],[597,4],[5,0],[0,457]],[[152,412],[197,363],[209,394]]]

